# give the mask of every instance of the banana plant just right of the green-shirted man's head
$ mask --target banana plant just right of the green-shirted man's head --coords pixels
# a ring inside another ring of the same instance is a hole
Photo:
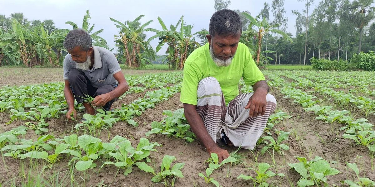
[[[261,47],[262,47],[262,39],[265,33],[275,33],[280,34],[281,36],[285,37],[289,42],[293,43],[293,40],[288,36],[288,34],[284,33],[284,31],[276,29],[280,26],[280,24],[269,24],[266,18],[263,20],[260,19],[261,15],[258,15],[256,18],[253,18],[247,12],[243,12],[243,15],[246,16],[253,25],[253,27],[258,27],[257,31],[257,39],[258,39],[258,50],[257,50],[257,64],[259,64],[260,54],[261,54]]]

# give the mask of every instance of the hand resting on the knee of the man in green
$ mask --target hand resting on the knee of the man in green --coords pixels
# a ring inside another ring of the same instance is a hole
[[[267,107],[267,91],[258,88],[254,94],[250,97],[248,104],[245,109],[250,108],[249,116],[255,117],[259,115],[264,115],[266,113]]]

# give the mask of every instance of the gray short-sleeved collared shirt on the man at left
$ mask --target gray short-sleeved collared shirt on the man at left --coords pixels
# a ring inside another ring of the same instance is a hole
[[[121,71],[120,65],[115,55],[104,47],[93,46],[94,49],[94,65],[91,70],[84,70],[86,77],[90,80],[95,88],[105,85],[117,85],[117,80],[113,74]],[[69,80],[69,71],[76,68],[77,62],[72,60],[71,54],[65,56],[64,59],[64,79]]]

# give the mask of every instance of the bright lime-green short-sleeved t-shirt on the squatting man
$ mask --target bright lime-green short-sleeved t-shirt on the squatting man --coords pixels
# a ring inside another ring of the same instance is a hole
[[[260,80],[265,80],[249,48],[243,43],[238,44],[232,63],[227,67],[218,67],[215,64],[208,43],[195,49],[184,64],[180,101],[196,105],[198,83],[206,77],[215,77],[219,81],[226,105],[239,95],[238,84],[241,77],[246,85],[254,85]]]

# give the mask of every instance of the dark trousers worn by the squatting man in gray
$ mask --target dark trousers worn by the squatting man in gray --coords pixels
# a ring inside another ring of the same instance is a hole
[[[116,86],[105,85],[100,88],[95,88],[91,85],[91,82],[85,76],[85,73],[83,73],[83,71],[78,70],[78,69],[70,70],[68,79],[69,79],[69,85],[73,91],[75,100],[77,100],[78,103],[83,102],[84,98],[86,98],[86,95],[95,97],[97,95],[102,95],[104,93],[113,91],[117,87],[117,85]],[[116,100],[117,98],[111,101],[108,101],[107,104],[103,106],[103,110],[109,111],[113,102]]]

